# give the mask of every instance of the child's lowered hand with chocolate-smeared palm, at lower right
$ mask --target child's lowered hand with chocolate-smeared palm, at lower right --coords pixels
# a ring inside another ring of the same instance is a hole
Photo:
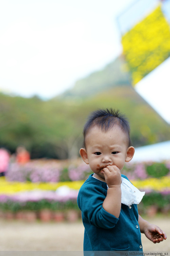
[[[158,226],[149,224],[144,231],[145,236],[151,240],[154,244],[160,243],[167,239],[166,233],[162,231]]]

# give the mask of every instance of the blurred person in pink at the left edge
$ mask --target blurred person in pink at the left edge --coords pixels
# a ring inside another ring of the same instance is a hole
[[[10,161],[10,154],[5,148],[0,148],[0,177],[5,176]]]

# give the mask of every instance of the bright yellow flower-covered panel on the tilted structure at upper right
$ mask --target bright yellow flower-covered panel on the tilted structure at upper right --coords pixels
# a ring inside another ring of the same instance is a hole
[[[122,45],[133,84],[170,56],[170,26],[161,5],[122,36]]]

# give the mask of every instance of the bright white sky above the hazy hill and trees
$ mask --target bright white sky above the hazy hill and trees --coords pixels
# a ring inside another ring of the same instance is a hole
[[[122,53],[117,17],[134,2],[2,0],[0,91],[49,99],[104,68]]]

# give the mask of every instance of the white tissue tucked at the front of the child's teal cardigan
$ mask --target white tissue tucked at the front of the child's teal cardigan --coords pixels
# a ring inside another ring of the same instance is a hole
[[[130,181],[122,177],[121,183],[121,203],[125,205],[138,204],[142,200],[145,192],[139,191]]]

